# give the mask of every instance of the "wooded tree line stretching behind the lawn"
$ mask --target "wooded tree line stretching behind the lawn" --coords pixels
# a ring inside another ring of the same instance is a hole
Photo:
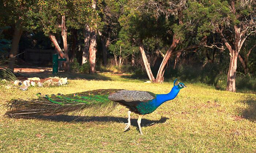
[[[153,83],[179,77],[255,92],[254,0],[0,3],[0,52],[11,72],[23,50],[54,48],[67,59],[65,72],[131,73]]]

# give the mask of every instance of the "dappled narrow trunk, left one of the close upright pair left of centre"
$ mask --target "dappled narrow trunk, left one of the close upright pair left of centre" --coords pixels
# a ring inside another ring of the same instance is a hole
[[[86,24],[84,27],[84,48],[83,48],[82,65],[88,62],[89,45],[90,45],[90,28],[88,24]]]

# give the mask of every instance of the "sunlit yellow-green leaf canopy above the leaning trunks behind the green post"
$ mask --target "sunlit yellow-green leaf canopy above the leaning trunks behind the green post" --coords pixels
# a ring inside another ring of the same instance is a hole
[[[101,4],[96,1],[99,9],[93,9],[93,0],[54,0],[39,1],[37,18],[40,20],[43,31],[47,35],[49,32],[60,31],[61,16],[65,15],[66,26],[68,28],[81,28],[81,25],[89,24],[91,28],[96,28],[100,18]]]

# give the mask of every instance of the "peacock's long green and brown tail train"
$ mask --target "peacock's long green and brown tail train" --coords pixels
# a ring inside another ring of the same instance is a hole
[[[110,112],[118,104],[108,99],[108,95],[120,89],[98,89],[93,91],[72,93],[67,95],[45,95],[38,93],[37,99],[12,99],[7,103],[10,108],[5,115],[11,117],[25,114],[53,115],[72,111],[82,111],[89,108],[91,111]]]

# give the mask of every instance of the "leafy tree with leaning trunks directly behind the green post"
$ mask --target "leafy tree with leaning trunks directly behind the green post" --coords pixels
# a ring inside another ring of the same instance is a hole
[[[61,58],[66,58],[67,61],[64,64],[65,71],[70,71],[70,61],[68,56],[67,47],[67,30],[69,28],[76,28],[80,24],[93,24],[93,17],[91,13],[93,8],[92,0],[60,0],[58,2],[54,0],[45,0],[38,2],[38,18],[41,20],[43,30],[46,35],[49,35],[54,46],[59,52]],[[68,27],[67,27],[67,22]],[[57,42],[54,33],[61,30],[61,36],[63,38],[63,49],[61,50],[59,43]]]

